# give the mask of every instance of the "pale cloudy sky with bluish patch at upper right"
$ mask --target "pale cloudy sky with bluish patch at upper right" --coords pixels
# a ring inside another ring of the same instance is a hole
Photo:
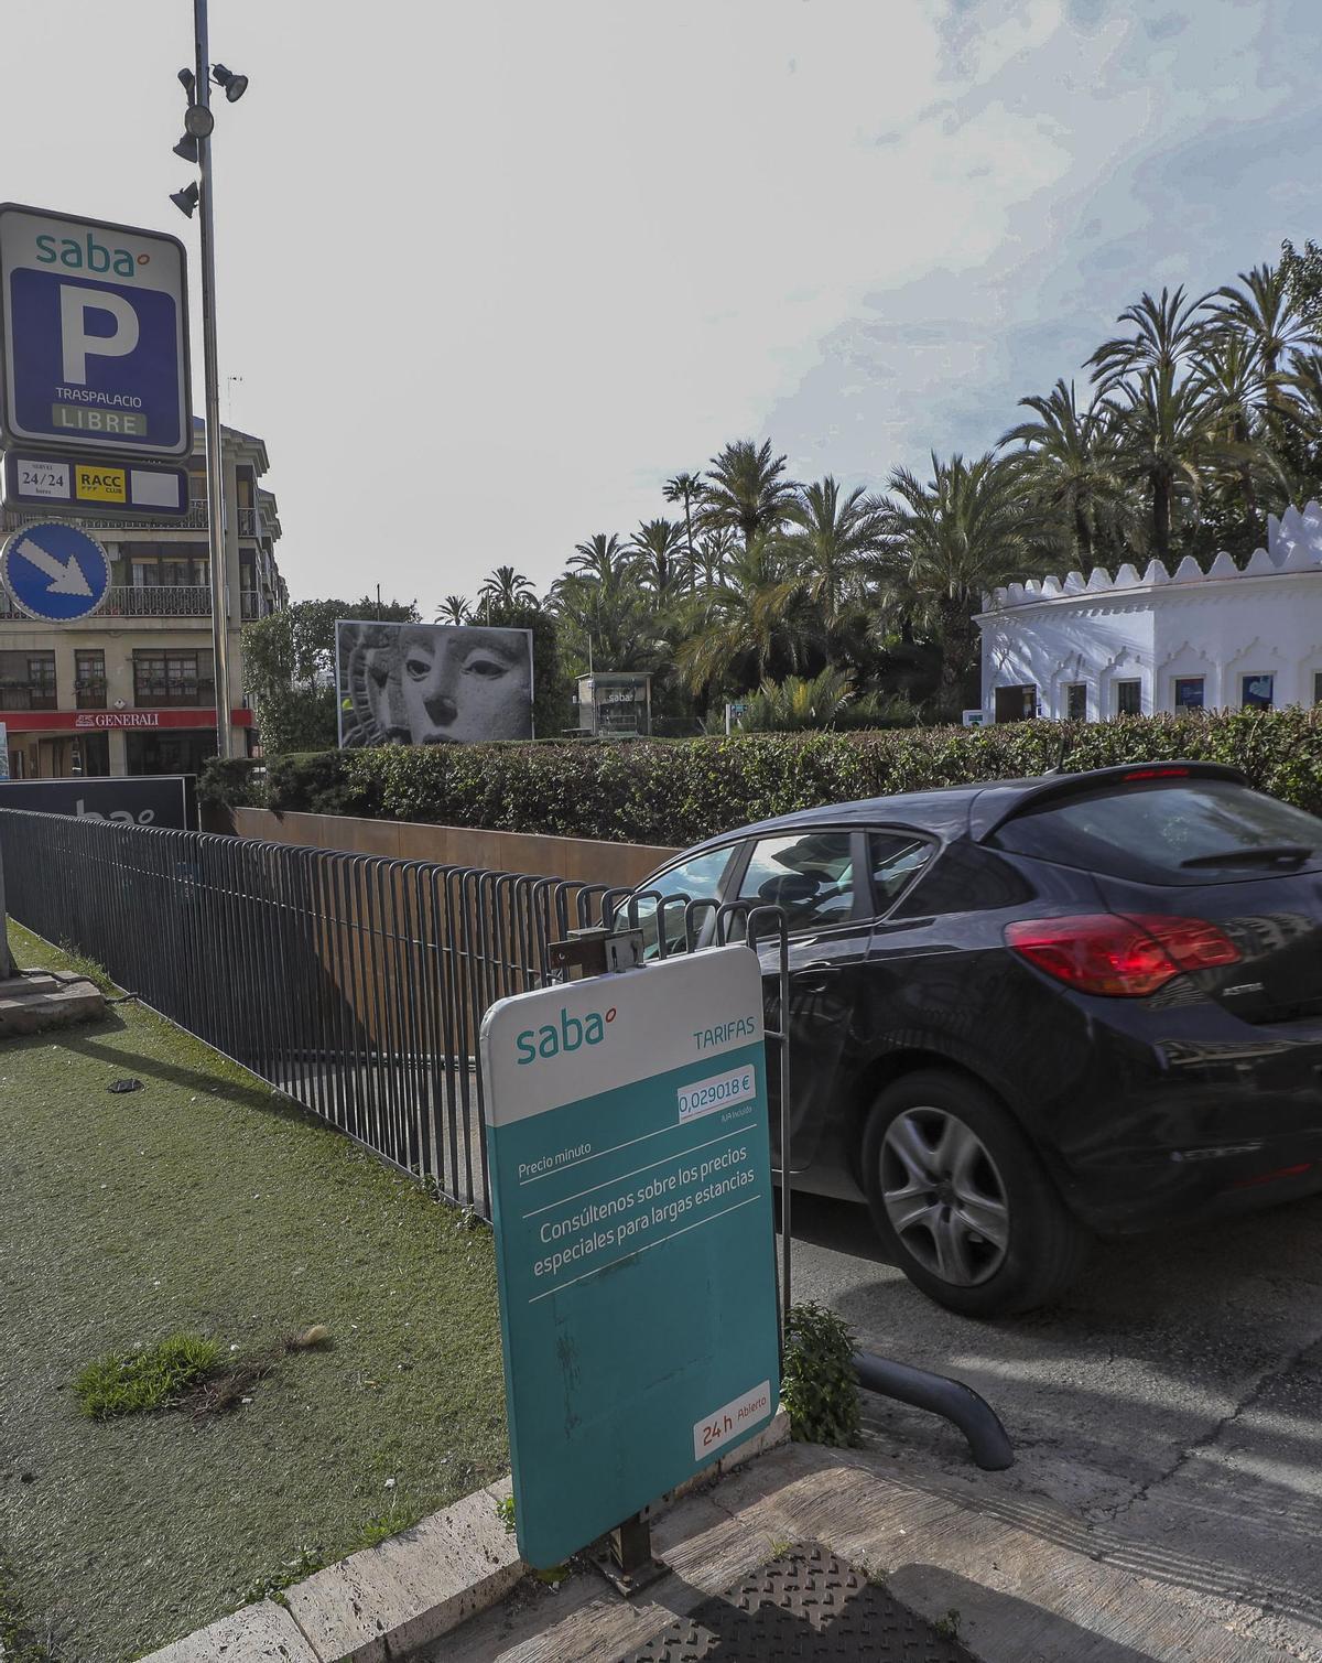
[[[770,437],[881,489],[1322,238],[1315,0],[211,0],[221,411],[429,617]],[[7,0],[7,200],[168,229],[191,0]],[[20,67],[20,68],[18,68]],[[195,306],[196,309],[196,306]],[[201,411],[195,324],[195,407]]]

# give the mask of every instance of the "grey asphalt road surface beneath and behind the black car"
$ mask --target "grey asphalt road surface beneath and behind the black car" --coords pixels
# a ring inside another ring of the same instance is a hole
[[[945,1422],[868,1399],[910,1470],[1322,1663],[1322,1199],[1106,1244],[1059,1309],[984,1324],[886,1264],[863,1207],[797,1196],[793,1294],[966,1380],[1018,1453],[979,1473]]]

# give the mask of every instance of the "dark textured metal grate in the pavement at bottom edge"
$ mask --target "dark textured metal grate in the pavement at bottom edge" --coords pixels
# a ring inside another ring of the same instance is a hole
[[[969,1653],[821,1547],[795,1548],[620,1663],[971,1663]]]

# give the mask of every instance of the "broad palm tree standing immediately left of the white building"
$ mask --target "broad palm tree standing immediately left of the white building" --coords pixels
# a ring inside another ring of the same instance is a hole
[[[886,489],[893,584],[941,642],[938,705],[958,717],[978,660],[973,614],[983,592],[1039,564],[1033,502],[1018,471],[989,452],[974,462],[933,456],[926,484],[898,467]]]

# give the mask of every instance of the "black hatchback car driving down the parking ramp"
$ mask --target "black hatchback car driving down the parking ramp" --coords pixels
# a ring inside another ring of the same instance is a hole
[[[953,1310],[1049,1302],[1094,1234],[1322,1189],[1322,820],[1232,768],[743,827],[639,888],[652,953],[680,895],[783,908],[793,1184],[866,1199]]]

